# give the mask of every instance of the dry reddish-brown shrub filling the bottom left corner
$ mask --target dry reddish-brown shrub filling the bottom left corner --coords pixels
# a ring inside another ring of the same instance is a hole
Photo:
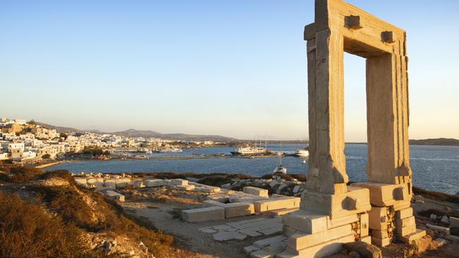
[[[37,204],[0,192],[0,257],[90,256],[81,236]]]

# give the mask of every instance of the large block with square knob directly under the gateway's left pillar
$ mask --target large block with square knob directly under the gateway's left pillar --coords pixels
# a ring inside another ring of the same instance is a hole
[[[347,190],[333,195],[305,190],[301,208],[326,214],[333,219],[371,209],[368,189],[349,186]]]

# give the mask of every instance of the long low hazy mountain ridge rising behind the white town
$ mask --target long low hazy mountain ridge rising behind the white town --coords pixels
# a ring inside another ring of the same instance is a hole
[[[97,134],[107,133],[107,132],[102,132],[101,130],[80,130],[76,128],[48,125],[47,123],[40,123],[40,122],[35,122],[35,123],[44,128],[55,129],[59,133],[71,133],[71,132],[76,132],[76,133],[89,132],[89,133],[97,133]],[[191,141],[214,141],[214,142],[231,142],[231,141],[237,140],[232,137],[225,137],[225,136],[220,136],[220,135],[188,135],[185,133],[157,133],[152,130],[136,130],[136,129],[129,129],[129,130],[124,130],[121,132],[114,132],[110,134],[121,135],[121,136],[126,136],[126,137],[145,137],[145,138],[155,137],[155,138],[168,139],[168,140],[191,140]]]

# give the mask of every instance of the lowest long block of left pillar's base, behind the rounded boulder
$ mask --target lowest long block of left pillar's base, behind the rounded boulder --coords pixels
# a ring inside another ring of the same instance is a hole
[[[354,235],[347,235],[345,237],[323,242],[320,245],[314,245],[302,250],[295,251],[291,248],[289,248],[289,250],[292,250],[294,254],[302,258],[326,257],[327,255],[340,252],[342,250],[342,244],[345,242],[354,242]]]

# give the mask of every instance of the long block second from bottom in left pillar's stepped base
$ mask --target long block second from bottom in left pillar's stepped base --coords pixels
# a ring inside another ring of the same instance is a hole
[[[318,245],[323,242],[328,242],[333,239],[342,238],[346,235],[350,235],[352,232],[350,224],[340,226],[338,228],[332,228],[327,231],[321,231],[314,234],[304,233],[299,231],[294,233],[290,238],[287,238],[287,246],[293,250],[302,250],[313,245]]]

